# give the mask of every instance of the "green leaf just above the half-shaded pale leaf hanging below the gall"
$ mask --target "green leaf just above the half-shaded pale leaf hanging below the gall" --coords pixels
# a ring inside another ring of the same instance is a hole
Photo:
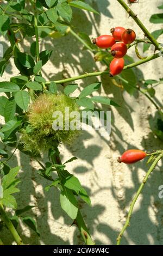
[[[62,180],[62,183],[65,187],[69,188],[70,190],[74,190],[77,194],[79,191],[82,190],[82,186],[77,177],[73,175],[67,176],[65,179]]]

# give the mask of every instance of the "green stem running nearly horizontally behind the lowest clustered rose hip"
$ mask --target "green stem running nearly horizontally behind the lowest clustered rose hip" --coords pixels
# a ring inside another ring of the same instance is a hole
[[[131,63],[127,66],[124,66],[123,70],[134,68],[135,66],[139,66],[143,63],[149,62],[150,60],[156,59],[156,58],[159,58],[159,57],[160,57],[159,53],[153,54],[152,56],[149,56],[146,59],[141,59],[138,62]],[[66,78],[66,79],[63,79],[63,80],[57,80],[57,81],[54,81],[54,83],[63,84],[63,83],[72,82],[72,81],[80,80],[80,79],[87,78],[87,77],[103,76],[103,75],[109,75],[109,71],[99,71],[99,72],[86,73],[86,74],[80,75],[80,76],[70,77],[70,78]],[[52,81],[48,81],[45,84],[49,84],[51,82]]]

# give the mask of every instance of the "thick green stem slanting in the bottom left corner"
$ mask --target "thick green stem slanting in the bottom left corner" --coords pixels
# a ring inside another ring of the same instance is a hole
[[[0,214],[2,216],[2,219],[3,219],[4,223],[5,223],[5,225],[7,225],[7,227],[10,230],[12,236],[14,237],[14,240],[16,241],[17,245],[23,245],[22,239],[18,235],[18,233],[17,233],[14,225],[12,224],[10,218],[5,213],[2,203],[0,203]]]

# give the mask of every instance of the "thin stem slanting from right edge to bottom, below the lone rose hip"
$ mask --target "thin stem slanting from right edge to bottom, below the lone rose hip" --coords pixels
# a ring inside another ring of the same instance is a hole
[[[141,184],[140,187],[139,187],[139,190],[137,190],[136,195],[135,195],[133,201],[132,201],[131,204],[130,204],[130,209],[129,209],[129,212],[128,212],[128,216],[127,216],[126,223],[124,224],[124,226],[123,226],[123,228],[122,228],[120,234],[119,234],[118,237],[117,237],[117,245],[120,245],[122,235],[123,235],[124,231],[127,229],[127,227],[128,227],[129,224],[130,224],[130,218],[131,218],[131,215],[133,214],[133,209],[134,209],[134,205],[135,205],[135,203],[136,203],[137,198],[140,196],[140,193],[142,192],[142,189],[143,189],[143,187],[145,186],[145,184],[146,184],[146,182],[147,182],[147,180],[148,180],[149,175],[152,173],[152,171],[153,171],[153,169],[155,168],[156,164],[158,163],[158,161],[159,161],[162,157],[163,157],[163,153],[159,154],[159,156],[156,157],[156,159],[155,159],[155,160],[153,161],[153,163],[151,164],[151,167],[149,168],[149,170],[148,170],[148,172],[147,172],[145,178],[143,179],[142,184]]]

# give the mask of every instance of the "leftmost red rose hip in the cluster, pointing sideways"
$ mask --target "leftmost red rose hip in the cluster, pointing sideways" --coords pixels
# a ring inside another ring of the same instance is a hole
[[[103,49],[109,48],[116,43],[112,35],[100,35],[98,38],[93,39],[92,42]]]

